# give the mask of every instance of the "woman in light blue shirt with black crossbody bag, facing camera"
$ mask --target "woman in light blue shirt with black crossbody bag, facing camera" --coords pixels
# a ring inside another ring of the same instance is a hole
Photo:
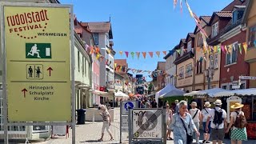
[[[193,142],[193,130],[197,136],[200,133],[187,110],[187,102],[181,101],[178,103],[178,113],[173,115],[172,122],[170,124],[170,130],[174,133],[174,144],[191,144]]]

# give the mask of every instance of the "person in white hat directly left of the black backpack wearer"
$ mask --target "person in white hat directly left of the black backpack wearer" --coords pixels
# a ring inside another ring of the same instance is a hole
[[[210,116],[210,102],[205,102],[203,105],[204,109],[201,111],[201,122],[202,122],[202,127],[203,127],[203,141],[202,143],[210,143],[210,133],[211,133],[211,128],[210,125],[208,125],[208,131],[206,131],[206,121],[207,118]],[[210,122],[212,121],[212,118],[210,118]],[[209,122],[209,123],[210,123]]]

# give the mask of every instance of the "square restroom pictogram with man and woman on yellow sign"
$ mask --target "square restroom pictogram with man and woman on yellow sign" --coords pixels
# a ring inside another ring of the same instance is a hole
[[[41,64],[26,65],[26,79],[42,79],[43,66]]]

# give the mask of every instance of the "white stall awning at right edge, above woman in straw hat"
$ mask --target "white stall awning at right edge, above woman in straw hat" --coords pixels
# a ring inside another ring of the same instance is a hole
[[[251,96],[256,95],[256,88],[250,89],[242,89],[242,90],[226,90],[223,92],[218,92],[214,94],[213,97],[227,97],[227,96],[234,96],[234,95],[242,95],[242,96]]]

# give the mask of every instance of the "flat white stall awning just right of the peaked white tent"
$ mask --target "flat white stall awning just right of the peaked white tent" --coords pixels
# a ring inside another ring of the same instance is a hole
[[[210,97],[214,97],[214,94],[221,93],[221,92],[229,92],[229,91],[230,90],[214,88],[209,90],[192,91],[190,93],[184,94],[184,96],[209,95]]]

